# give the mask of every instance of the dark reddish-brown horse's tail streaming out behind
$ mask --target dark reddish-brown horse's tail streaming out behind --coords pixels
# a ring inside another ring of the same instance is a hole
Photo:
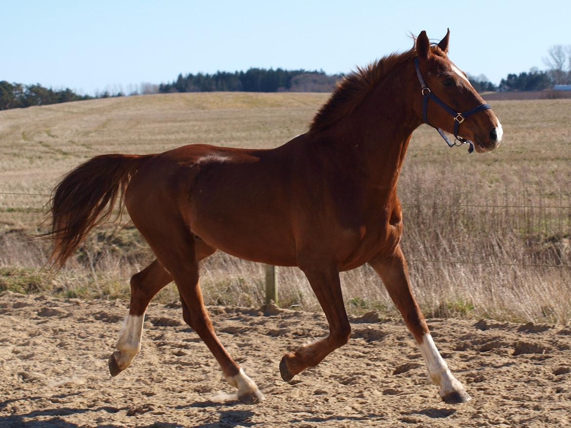
[[[42,235],[53,240],[51,263],[61,268],[91,229],[111,217],[118,196],[122,214],[131,176],[152,156],[96,156],[59,181],[50,199],[51,232]]]

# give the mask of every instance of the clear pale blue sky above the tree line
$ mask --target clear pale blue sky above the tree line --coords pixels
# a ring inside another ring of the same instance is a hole
[[[464,71],[498,83],[545,68],[571,45],[566,1],[0,0],[0,80],[95,90],[250,67],[348,72],[409,33],[438,41]]]

